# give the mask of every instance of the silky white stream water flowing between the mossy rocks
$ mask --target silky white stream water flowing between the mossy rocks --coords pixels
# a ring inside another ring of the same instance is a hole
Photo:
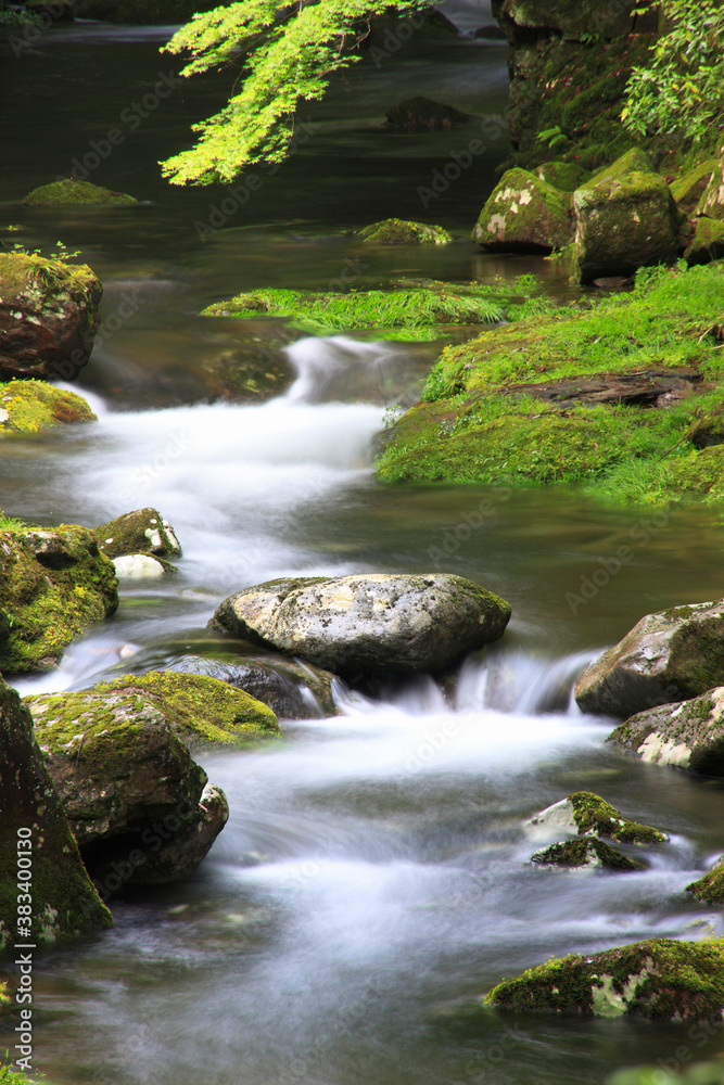
[[[463,15],[474,28],[474,5]],[[285,741],[263,752],[205,754],[229,800],[227,828],[187,882],[115,901],[112,932],[43,957],[36,1065],[63,1085],[573,1085],[671,1059],[682,1044],[711,1054],[715,1036],[670,1025],[465,1010],[551,954],[721,931],[719,914],[683,892],[724,846],[721,784],[622,758],[605,743],[612,722],[570,698],[584,663],[643,614],[724,595],[721,527],[702,512],[653,518],[574,493],[378,486],[384,390],[410,393],[430,345],[300,340],[288,349],[296,381],[265,404],[219,399],[205,375],[250,342],[278,350],[271,323],[196,316],[255,285],[320,286],[348,268],[378,283],[535,269],[564,289],[555,266],[492,259],[465,241],[504,138],[422,214],[420,178],[480,125],[424,139],[381,126],[409,93],[499,112],[505,51],[416,41],[389,65],[366,61],[315,107],[315,140],[204,242],[194,222],[224,191],[168,190],[155,162],[219,100],[218,79],[175,92],[93,170],[147,204],[22,207],[170,69],[156,52],[166,36],[58,28],[2,69],[13,110],[0,216],[30,247],[60,239],[82,250],[106,290],[103,342],[72,385],[99,421],[5,438],[0,505],[88,525],[154,506],[185,551],[177,577],[123,585],[112,621],[18,688],[82,688],[188,654],[243,656],[249,646],[206,631],[207,620],[230,592],[290,572],[459,573],[508,599],[513,620],[445,697],[425,677],[374,699],[340,688],[338,717],[282,722]],[[392,214],[441,221],[461,240],[368,252],[345,233]],[[137,304],[118,316],[128,294]],[[634,557],[617,571],[622,545]],[[665,828],[646,871],[529,861],[541,841],[525,819],[579,789]]]

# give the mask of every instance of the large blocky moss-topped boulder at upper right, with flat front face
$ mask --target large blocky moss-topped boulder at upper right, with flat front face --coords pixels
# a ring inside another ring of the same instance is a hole
[[[679,252],[669,186],[637,148],[573,193],[575,264],[582,283],[671,264]]]

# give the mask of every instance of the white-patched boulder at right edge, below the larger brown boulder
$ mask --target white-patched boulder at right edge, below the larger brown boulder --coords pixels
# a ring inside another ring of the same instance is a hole
[[[609,742],[653,765],[724,776],[724,687],[626,719]]]

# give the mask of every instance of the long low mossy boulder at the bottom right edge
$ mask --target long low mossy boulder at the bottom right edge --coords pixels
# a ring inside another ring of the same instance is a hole
[[[648,939],[585,957],[549,960],[504,980],[483,1005],[586,1017],[720,1020],[724,940]]]

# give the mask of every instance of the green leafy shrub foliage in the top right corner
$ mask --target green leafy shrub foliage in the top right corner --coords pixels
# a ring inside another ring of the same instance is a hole
[[[655,4],[647,4],[639,13]],[[663,0],[664,33],[648,67],[634,68],[621,114],[639,136],[712,142],[724,118],[724,3]]]

